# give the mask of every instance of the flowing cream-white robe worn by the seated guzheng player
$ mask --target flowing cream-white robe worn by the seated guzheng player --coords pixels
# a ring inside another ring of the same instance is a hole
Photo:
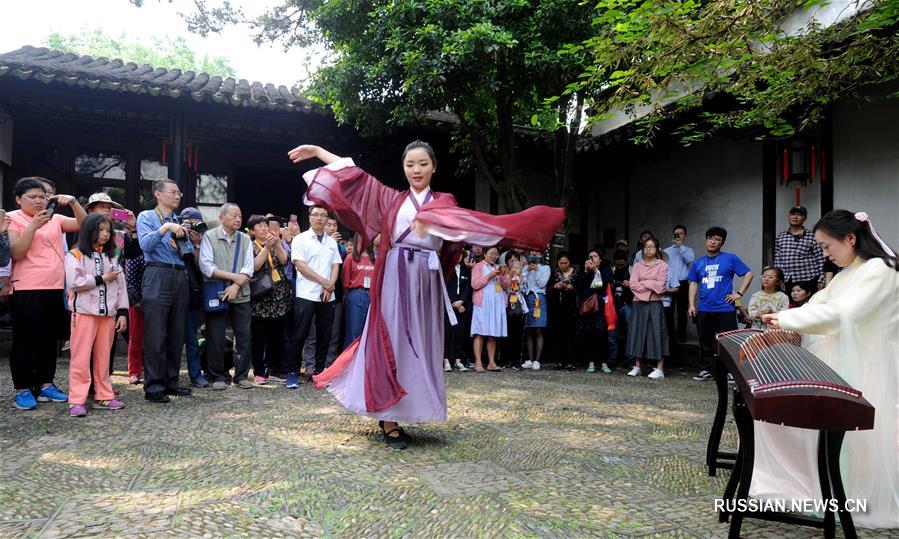
[[[874,429],[847,432],[840,459],[848,499],[864,528],[899,528],[899,272],[883,260],[856,258],[803,307],[782,311],[783,329],[875,408]],[[817,431],[755,423],[750,495],[819,499]]]

